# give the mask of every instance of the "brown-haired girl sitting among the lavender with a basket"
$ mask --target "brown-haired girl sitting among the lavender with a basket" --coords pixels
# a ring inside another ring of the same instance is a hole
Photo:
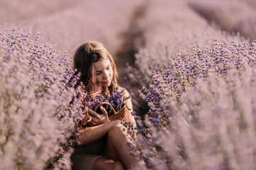
[[[112,56],[100,42],[90,41],[78,47],[74,56],[74,69],[80,72],[80,81],[84,85],[87,97],[101,93],[103,96],[111,94],[117,86],[117,69]],[[125,91],[125,96],[129,96]],[[86,101],[86,100],[85,100]],[[125,119],[136,125],[132,116],[132,102],[126,102],[129,111]],[[138,165],[137,159],[129,154],[127,142],[129,139],[124,132],[120,120],[110,121],[107,111],[100,107],[102,114],[97,114],[89,108],[90,127],[78,133],[75,152],[71,157],[73,169],[132,169]],[[102,137],[107,137],[104,152],[100,155],[83,152],[82,146],[95,142]]]

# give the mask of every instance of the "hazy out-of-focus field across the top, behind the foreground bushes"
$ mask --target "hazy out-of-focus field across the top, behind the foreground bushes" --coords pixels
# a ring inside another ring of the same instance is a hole
[[[123,84],[134,54],[170,33],[210,25],[255,39],[255,6],[253,0],[1,0],[0,25],[40,33],[42,42],[67,51],[70,59],[82,43],[100,41],[117,62]]]

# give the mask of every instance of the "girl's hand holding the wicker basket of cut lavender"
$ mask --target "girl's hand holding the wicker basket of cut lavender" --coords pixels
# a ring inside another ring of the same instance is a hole
[[[102,123],[110,122],[110,119],[107,116],[107,111],[105,108],[100,106],[100,110],[102,111],[102,114],[98,114],[95,111],[92,111],[92,109],[89,108],[89,112],[92,115],[92,120],[90,120],[90,124],[92,125],[100,125]]]

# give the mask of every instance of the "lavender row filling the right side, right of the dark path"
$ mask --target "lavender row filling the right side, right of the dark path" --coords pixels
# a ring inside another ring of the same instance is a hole
[[[175,17],[145,16],[127,70],[149,106],[134,152],[145,169],[255,169],[256,41],[211,28],[186,1],[151,1],[147,15],[160,6]]]

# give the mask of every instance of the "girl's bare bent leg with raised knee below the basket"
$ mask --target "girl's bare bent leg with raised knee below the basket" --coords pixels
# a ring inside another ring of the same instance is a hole
[[[114,161],[120,161],[127,169],[138,166],[139,162],[131,154],[129,154],[129,142],[124,126],[117,122],[107,133],[107,157]]]

